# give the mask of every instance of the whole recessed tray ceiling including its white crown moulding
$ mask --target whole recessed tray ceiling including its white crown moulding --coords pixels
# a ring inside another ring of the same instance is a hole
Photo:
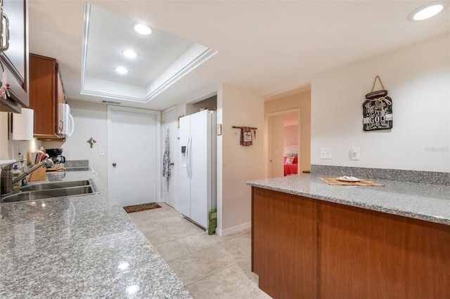
[[[81,93],[114,100],[148,102],[217,53],[206,46],[151,28],[89,3],[84,4]],[[135,58],[123,55],[134,51]],[[127,69],[120,74],[116,67]]]

